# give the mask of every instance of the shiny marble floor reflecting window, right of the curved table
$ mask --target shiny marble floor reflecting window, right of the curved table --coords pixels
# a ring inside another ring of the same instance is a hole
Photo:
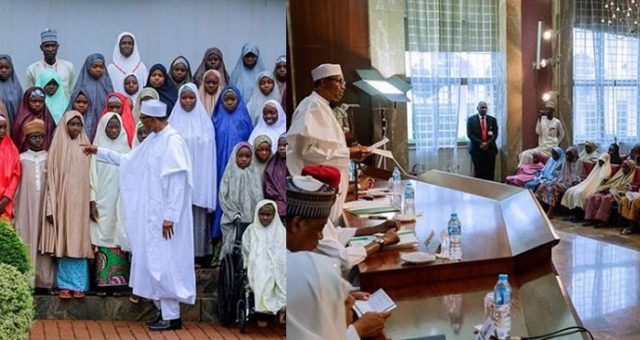
[[[553,262],[595,339],[640,340],[640,235],[552,220]]]

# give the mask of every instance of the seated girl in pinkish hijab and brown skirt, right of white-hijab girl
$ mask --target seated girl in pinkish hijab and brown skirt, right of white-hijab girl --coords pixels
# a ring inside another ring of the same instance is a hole
[[[611,207],[619,202],[627,191],[631,191],[631,182],[636,175],[636,163],[626,160],[622,167],[606,183],[600,185],[593,195],[589,196],[582,225],[602,226],[609,221]]]

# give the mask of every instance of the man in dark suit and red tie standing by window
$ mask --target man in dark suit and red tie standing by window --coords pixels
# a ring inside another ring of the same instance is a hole
[[[467,119],[467,137],[471,140],[469,153],[475,177],[493,181],[496,165],[498,122],[487,115],[487,103],[478,103],[478,114]]]

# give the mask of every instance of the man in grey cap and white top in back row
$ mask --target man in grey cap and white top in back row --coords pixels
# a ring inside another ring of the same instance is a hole
[[[71,97],[71,91],[76,81],[76,73],[71,62],[56,58],[59,47],[58,33],[55,30],[47,28],[40,33],[40,50],[44,59],[36,61],[27,67],[26,88],[36,86],[38,75],[46,69],[52,69],[60,76],[67,98]]]

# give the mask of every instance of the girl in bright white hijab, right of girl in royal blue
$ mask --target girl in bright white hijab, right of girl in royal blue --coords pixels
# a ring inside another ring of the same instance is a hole
[[[253,144],[256,137],[267,135],[271,138],[271,153],[276,153],[278,138],[287,128],[287,115],[277,100],[266,101],[260,108],[260,112],[260,119],[249,136],[249,142]]]

